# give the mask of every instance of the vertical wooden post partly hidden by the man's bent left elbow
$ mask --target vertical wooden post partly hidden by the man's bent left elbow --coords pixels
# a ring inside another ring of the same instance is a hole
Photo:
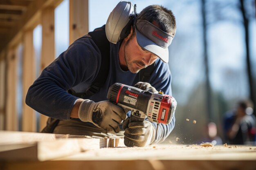
[[[23,35],[23,73],[22,73],[22,131],[36,131],[36,114],[34,110],[25,104],[27,90],[35,79],[35,59],[33,47],[33,30],[29,29]]]

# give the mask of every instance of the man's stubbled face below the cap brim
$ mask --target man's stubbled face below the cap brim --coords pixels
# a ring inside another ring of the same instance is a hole
[[[158,57],[142,49],[137,43],[136,35],[133,35],[124,45],[124,58],[130,72],[138,73],[142,68],[153,64]]]

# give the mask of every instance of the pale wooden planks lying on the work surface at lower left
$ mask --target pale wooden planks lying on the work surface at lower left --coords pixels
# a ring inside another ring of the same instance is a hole
[[[119,139],[35,132],[0,131],[0,139],[0,160],[45,161],[87,150],[119,146]]]

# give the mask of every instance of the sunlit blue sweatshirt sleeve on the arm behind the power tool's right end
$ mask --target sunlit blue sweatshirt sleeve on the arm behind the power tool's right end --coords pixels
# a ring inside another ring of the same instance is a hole
[[[171,71],[167,63],[157,60],[157,66],[150,77],[151,86],[155,87],[157,91],[164,91],[164,94],[172,95],[171,89]],[[146,118],[147,121],[149,121]],[[157,130],[156,139],[153,144],[163,142],[171,133],[175,126],[175,113],[173,114],[172,120],[169,124],[157,124],[152,123],[153,127]]]

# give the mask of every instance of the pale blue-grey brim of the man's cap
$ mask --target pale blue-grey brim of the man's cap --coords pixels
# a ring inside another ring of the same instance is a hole
[[[169,50],[168,48],[163,48],[155,44],[155,42],[149,40],[144,35],[142,35],[137,29],[136,30],[136,37],[139,46],[144,48],[147,51],[157,55],[163,62],[168,63],[169,61]]]

